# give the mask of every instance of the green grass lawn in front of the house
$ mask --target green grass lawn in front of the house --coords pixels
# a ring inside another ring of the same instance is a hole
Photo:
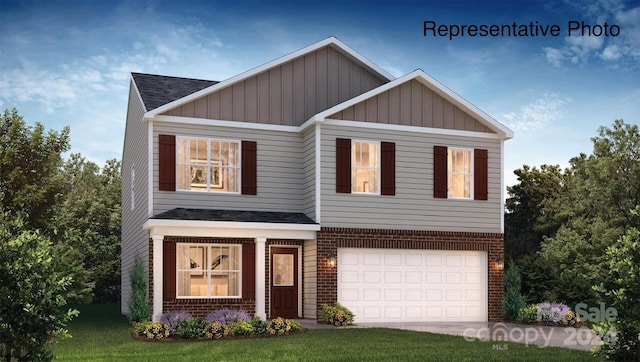
[[[61,361],[584,361],[589,352],[385,328],[313,329],[266,338],[144,342],[129,334],[115,304],[83,305],[69,325],[73,338],[54,347]],[[505,350],[506,346],[506,350]]]

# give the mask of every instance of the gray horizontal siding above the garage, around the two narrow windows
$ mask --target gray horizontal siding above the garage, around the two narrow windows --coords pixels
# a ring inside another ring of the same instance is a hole
[[[396,144],[396,195],[336,193],[336,138]],[[326,227],[501,232],[499,139],[322,126],[322,225]],[[433,146],[488,150],[488,200],[435,199]]]

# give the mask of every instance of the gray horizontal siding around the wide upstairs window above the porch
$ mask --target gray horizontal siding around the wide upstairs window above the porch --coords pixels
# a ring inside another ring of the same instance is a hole
[[[297,132],[280,132],[154,123],[153,214],[176,207],[303,212],[302,137]],[[257,142],[258,194],[241,195],[193,191],[158,191],[158,135],[204,137]]]

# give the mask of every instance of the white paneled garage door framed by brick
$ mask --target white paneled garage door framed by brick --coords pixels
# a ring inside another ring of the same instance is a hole
[[[486,321],[487,253],[338,248],[338,301],[356,323]]]

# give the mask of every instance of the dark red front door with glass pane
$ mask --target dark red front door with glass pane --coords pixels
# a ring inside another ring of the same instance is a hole
[[[271,249],[271,318],[298,317],[298,248]]]

